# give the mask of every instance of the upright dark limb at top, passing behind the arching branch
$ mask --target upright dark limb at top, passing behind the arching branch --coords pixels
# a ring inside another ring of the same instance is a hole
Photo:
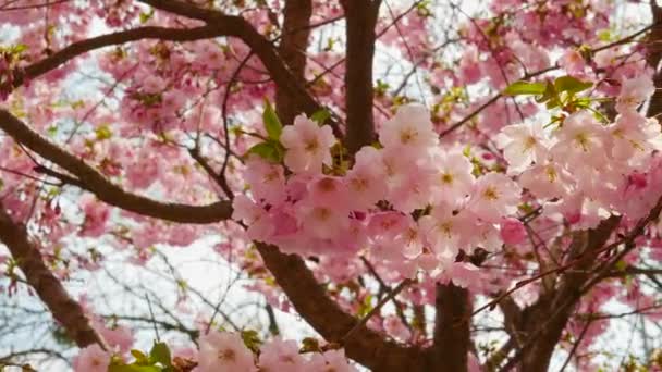
[[[292,76],[299,82],[305,82],[306,48],[310,37],[312,1],[287,0],[284,13],[279,53],[290,66]],[[294,97],[283,89],[275,90],[275,107],[279,117],[286,124],[292,123],[294,116],[298,114],[298,104],[294,101]]]

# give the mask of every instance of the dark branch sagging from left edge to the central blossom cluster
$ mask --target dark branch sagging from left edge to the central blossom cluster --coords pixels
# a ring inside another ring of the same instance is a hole
[[[0,129],[44,159],[52,161],[73,174],[79,182],[78,186],[94,193],[97,198],[111,206],[134,213],[181,223],[213,223],[228,220],[232,215],[232,206],[229,201],[219,201],[208,206],[188,206],[156,201],[127,193],[108,181],[85,161],[50,142],[3,109],[0,109]]]

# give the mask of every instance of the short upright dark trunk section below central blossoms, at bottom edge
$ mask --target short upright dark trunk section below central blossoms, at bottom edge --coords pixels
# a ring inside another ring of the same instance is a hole
[[[469,292],[452,283],[437,285],[434,344],[428,349],[430,371],[467,371],[470,348]]]

